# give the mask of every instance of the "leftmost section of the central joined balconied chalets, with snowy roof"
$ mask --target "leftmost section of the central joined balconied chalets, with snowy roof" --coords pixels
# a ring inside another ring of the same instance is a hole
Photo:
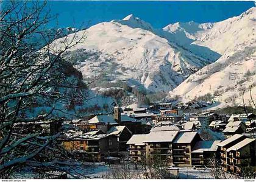
[[[146,144],[143,142],[148,135],[132,135],[127,141],[129,145],[129,158],[132,162],[145,163],[146,161]]]

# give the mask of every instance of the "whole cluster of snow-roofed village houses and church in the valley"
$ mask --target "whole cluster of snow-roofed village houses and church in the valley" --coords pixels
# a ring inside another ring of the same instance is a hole
[[[158,156],[168,166],[208,166],[218,158],[227,171],[239,173],[243,164],[256,166],[255,119],[252,113],[187,114],[169,103],[115,107],[113,114],[65,122],[62,142],[66,150],[93,161],[121,152],[129,152],[133,163],[150,164]],[[224,135],[205,140],[202,131]]]

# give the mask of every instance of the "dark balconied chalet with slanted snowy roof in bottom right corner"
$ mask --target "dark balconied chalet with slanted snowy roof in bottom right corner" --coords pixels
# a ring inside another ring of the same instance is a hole
[[[227,171],[244,175],[249,170],[255,172],[256,140],[246,138],[227,149]],[[251,169],[248,169],[251,168]]]

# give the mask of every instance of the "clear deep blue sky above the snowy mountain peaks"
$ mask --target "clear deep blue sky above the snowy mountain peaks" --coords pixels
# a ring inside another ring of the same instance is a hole
[[[49,5],[52,14],[59,15],[59,27],[73,26],[73,20],[76,27],[92,26],[132,13],[155,28],[178,21],[222,21],[255,6],[253,1],[49,1]]]

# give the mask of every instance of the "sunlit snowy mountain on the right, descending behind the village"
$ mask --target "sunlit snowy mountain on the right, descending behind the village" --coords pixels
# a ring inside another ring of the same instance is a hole
[[[221,106],[251,102],[249,87],[253,85],[252,97],[256,100],[256,8],[252,7],[240,16],[218,23],[171,24],[165,28],[172,33],[184,33],[194,40],[193,44],[206,46],[222,56],[205,66],[169,93],[191,100],[212,94]]]

